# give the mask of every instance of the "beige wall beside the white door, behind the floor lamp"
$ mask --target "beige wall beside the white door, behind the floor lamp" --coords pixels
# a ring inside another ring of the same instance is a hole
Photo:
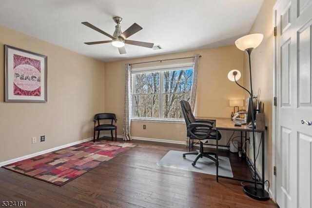
[[[254,95],[258,95],[260,101],[264,102],[265,122],[268,130],[265,134],[265,175],[272,181],[272,102],[273,102],[273,6],[276,0],[264,0],[262,7],[250,30],[250,34],[262,33],[262,43],[252,53],[252,79]],[[244,86],[250,89],[250,73],[248,56],[244,55]],[[246,97],[248,97],[246,95]],[[256,147],[259,145],[257,137]],[[261,149],[260,149],[261,151]],[[252,151],[249,151],[252,153]],[[257,148],[256,148],[257,152]],[[250,155],[253,158],[253,155]],[[260,152],[257,159],[257,169],[261,170]]]

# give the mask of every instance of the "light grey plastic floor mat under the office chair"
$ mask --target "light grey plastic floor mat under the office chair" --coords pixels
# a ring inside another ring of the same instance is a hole
[[[209,158],[203,157],[197,160],[196,165],[192,166],[196,155],[186,155],[185,159],[182,154],[186,152],[170,150],[158,163],[158,166],[173,167],[194,172],[207,173],[216,175],[215,162]],[[219,175],[233,177],[233,172],[228,157],[218,157]]]

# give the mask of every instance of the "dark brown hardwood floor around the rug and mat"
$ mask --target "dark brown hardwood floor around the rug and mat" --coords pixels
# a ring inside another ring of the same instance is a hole
[[[143,207],[143,208],[270,208],[243,192],[239,181],[214,175],[157,166],[169,151],[183,145],[131,141],[137,146],[62,187],[0,168],[0,202],[26,201],[26,207]],[[250,177],[232,153],[234,176]],[[182,156],[181,156],[182,157]],[[239,167],[239,168],[236,168]]]

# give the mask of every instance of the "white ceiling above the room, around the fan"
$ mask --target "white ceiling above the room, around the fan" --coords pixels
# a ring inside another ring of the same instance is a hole
[[[263,0],[1,0],[0,25],[104,62],[195,48],[231,45],[246,35]],[[81,24],[88,21],[113,35],[134,22],[143,30],[129,40],[160,44],[162,50],[125,45],[120,55],[110,38]]]

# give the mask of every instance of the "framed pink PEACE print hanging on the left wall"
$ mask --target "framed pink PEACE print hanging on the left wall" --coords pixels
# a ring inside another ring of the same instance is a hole
[[[9,45],[5,50],[5,102],[48,102],[47,56]]]

